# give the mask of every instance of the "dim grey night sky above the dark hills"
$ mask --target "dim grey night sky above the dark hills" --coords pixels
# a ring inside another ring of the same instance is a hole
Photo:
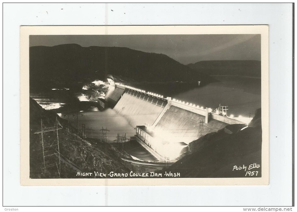
[[[182,63],[202,60],[261,60],[261,37],[240,35],[31,35],[30,46],[128,47],[166,54]]]

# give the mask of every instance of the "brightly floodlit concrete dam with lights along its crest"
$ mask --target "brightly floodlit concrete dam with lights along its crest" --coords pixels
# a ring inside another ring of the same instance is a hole
[[[108,91],[106,101],[135,127],[135,139],[157,160],[174,160],[199,135],[217,132],[229,124],[245,124],[207,107],[118,83]]]

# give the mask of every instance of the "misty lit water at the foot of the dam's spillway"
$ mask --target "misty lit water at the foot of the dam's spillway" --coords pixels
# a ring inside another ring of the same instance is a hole
[[[127,138],[130,138],[135,134],[135,126],[131,126],[123,116],[119,116],[110,108],[105,109],[104,111],[99,111],[97,107],[93,107],[78,112],[78,124],[75,112],[69,114],[61,113],[61,118],[68,119],[67,115],[69,115],[69,122],[73,127],[77,127],[78,125],[79,130],[81,130],[82,124],[85,124],[86,136],[90,138],[93,136],[93,138],[102,139],[102,127],[110,130],[108,132],[109,143],[113,143],[113,140],[116,140],[118,133],[120,136],[126,133]]]

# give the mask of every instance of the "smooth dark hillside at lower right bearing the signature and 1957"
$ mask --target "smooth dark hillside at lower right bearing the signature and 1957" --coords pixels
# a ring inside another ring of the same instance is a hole
[[[238,128],[233,128],[236,127]],[[260,109],[256,111],[249,127],[240,129],[242,127],[232,134],[222,129],[192,141],[189,144],[189,152],[193,153],[184,156],[165,171],[180,172],[181,177],[249,177],[243,170],[233,171],[233,167],[249,167],[257,163],[260,167],[250,171],[258,171],[257,176],[252,177],[261,177]],[[246,171],[249,171],[248,168]]]

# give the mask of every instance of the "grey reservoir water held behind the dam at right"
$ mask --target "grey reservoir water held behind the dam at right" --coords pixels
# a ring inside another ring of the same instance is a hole
[[[260,79],[236,77],[235,83],[230,79],[235,77],[228,78],[225,80],[230,80],[229,83],[214,82],[178,93],[173,98],[213,110],[221,104],[228,106],[228,116],[232,114],[234,117],[253,117],[255,110],[261,107]]]

